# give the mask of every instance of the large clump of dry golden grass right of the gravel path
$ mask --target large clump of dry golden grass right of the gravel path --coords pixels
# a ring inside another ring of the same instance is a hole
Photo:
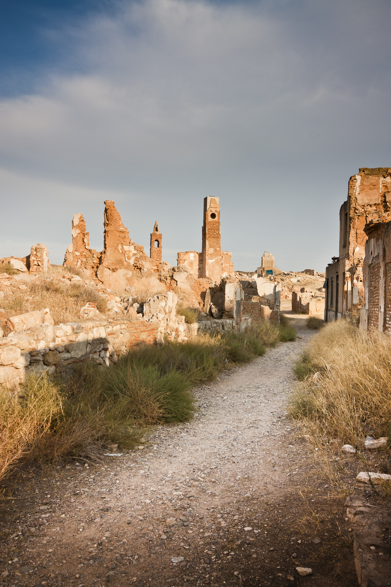
[[[390,436],[390,338],[347,321],[330,323],[312,338],[295,372],[301,382],[291,416],[311,434],[359,449],[368,433]]]

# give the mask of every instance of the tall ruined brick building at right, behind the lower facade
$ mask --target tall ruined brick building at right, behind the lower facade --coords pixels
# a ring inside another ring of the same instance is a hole
[[[339,210],[339,254],[326,268],[325,321],[358,319],[365,305],[365,225],[391,220],[391,168],[362,167]]]

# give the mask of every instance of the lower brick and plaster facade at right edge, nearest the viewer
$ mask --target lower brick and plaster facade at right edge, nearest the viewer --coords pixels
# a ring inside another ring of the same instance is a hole
[[[360,328],[391,333],[391,222],[365,226],[368,240],[363,262],[365,305]]]

